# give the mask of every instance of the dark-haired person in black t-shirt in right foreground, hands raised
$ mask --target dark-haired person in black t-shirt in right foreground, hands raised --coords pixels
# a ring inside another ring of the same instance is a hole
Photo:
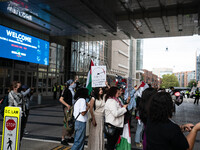
[[[173,102],[169,93],[158,92],[151,97],[146,124],[146,150],[192,150],[200,123],[179,126],[172,117]],[[182,131],[189,131],[187,137]]]

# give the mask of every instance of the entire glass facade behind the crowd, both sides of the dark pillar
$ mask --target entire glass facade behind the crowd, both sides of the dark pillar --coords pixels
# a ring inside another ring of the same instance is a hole
[[[81,84],[85,84],[91,59],[97,66],[105,65],[104,43],[72,41],[67,45],[71,46],[71,51],[57,43],[50,43],[49,65],[0,58],[0,95],[6,93],[12,81],[20,81],[43,95],[51,95],[55,83],[64,84],[75,76],[79,77]],[[69,59],[66,54],[70,55]]]

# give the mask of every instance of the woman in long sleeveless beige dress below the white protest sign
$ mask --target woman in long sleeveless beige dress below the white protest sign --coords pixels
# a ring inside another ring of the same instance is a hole
[[[104,150],[104,106],[105,96],[101,87],[93,90],[90,100],[91,120],[89,124],[88,150]],[[98,136],[97,136],[98,135]]]

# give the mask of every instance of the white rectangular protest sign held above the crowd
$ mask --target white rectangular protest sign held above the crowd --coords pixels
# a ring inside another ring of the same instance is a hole
[[[92,87],[106,86],[106,66],[92,66]]]

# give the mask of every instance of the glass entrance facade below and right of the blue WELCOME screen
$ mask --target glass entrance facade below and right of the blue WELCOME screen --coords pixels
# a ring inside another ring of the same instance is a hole
[[[6,93],[12,81],[49,95],[54,83],[64,82],[64,70],[64,46],[56,43],[50,44],[49,65],[0,58],[0,95]]]

